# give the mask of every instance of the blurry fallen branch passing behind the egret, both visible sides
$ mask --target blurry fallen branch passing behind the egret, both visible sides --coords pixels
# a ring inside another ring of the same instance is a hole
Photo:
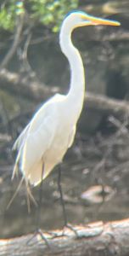
[[[47,85],[37,80],[28,81],[27,78],[21,77],[17,73],[10,73],[6,69],[0,72],[0,83],[1,89],[8,90],[14,95],[20,95],[35,102],[42,102],[56,92],[60,92],[58,87],[48,88]],[[117,117],[119,115],[129,115],[128,102],[110,99],[108,96],[93,95],[93,93],[89,92],[86,96],[86,109],[112,114]]]

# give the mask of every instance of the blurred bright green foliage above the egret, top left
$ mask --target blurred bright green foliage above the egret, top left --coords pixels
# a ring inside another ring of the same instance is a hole
[[[27,15],[30,22],[49,26],[53,32],[59,30],[61,21],[70,10],[77,9],[79,0],[1,0],[0,27],[13,31],[19,15]]]

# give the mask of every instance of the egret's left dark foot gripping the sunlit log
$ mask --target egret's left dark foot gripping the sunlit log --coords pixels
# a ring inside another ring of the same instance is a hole
[[[48,234],[48,232],[47,232],[47,234]],[[50,234],[48,234],[48,235],[50,236]],[[48,248],[50,248],[50,244],[49,244],[49,242],[48,242],[48,238],[43,234],[42,230],[40,230],[40,229],[38,229],[38,230],[36,230],[36,231],[34,232],[34,234],[31,236],[31,238],[27,241],[27,245],[29,245],[32,240],[34,240],[34,243],[37,242],[37,241],[35,240],[35,238],[36,238],[37,236],[40,236],[41,240],[45,242],[46,246],[47,246]],[[39,241],[39,238],[37,238],[37,240]]]

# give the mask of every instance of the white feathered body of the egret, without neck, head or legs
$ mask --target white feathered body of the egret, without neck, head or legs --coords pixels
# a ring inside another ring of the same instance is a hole
[[[53,167],[62,160],[74,139],[76,125],[69,119],[69,112],[64,108],[64,103],[64,96],[61,95],[56,95],[46,102],[31,119],[26,131],[23,131],[23,137],[21,133],[14,144],[14,148],[20,150],[20,157],[22,155],[20,168],[25,170],[23,173],[32,184],[36,185],[41,181],[42,168],[43,178],[48,176]],[[69,119],[67,122],[65,117]]]

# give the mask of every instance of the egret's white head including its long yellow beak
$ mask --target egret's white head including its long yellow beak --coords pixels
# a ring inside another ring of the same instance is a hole
[[[106,20],[92,15],[87,15],[82,11],[72,11],[66,15],[65,19],[70,23],[72,28],[78,26],[89,26],[89,25],[108,25],[108,26],[120,26],[121,23],[115,20]]]

